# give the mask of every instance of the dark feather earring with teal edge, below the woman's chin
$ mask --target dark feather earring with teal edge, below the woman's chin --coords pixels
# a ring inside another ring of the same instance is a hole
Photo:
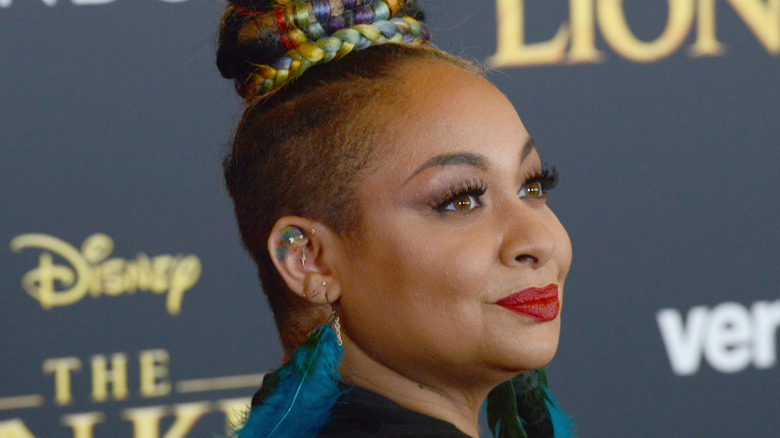
[[[547,389],[543,369],[520,373],[493,389],[487,420],[496,438],[570,438],[571,421]]]

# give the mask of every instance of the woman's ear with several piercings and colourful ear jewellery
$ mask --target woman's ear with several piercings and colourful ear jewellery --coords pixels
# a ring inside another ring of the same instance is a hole
[[[331,269],[338,248],[333,231],[299,216],[277,220],[268,236],[268,252],[287,287],[314,304],[333,303],[341,296]]]

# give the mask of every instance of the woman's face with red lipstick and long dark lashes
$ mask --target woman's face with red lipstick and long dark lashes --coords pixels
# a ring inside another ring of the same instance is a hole
[[[459,67],[415,62],[403,79],[390,151],[357,189],[360,237],[335,268],[344,333],[420,383],[543,366],[555,306],[496,304],[530,287],[562,293],[571,263],[531,137],[500,91]]]

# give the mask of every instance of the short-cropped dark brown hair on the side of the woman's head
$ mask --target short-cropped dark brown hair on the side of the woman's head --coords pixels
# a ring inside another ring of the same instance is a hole
[[[233,14],[223,15],[223,20],[233,18]],[[225,41],[224,29],[234,27],[223,21],[223,47],[232,44]],[[240,84],[251,74],[245,65],[252,61],[245,55],[255,51],[221,47],[219,53],[220,70],[234,77],[241,90]],[[257,264],[288,352],[327,315],[286,287],[268,254],[271,229],[279,218],[296,215],[344,236],[359,234],[355,187],[362,172],[381,156],[379,138],[382,127],[392,123],[390,108],[402,108],[401,67],[425,60],[476,71],[433,47],[369,47],[313,66],[299,80],[250,100],[238,124],[232,150],[224,160],[225,180],[244,246]],[[241,74],[236,76],[237,72]]]

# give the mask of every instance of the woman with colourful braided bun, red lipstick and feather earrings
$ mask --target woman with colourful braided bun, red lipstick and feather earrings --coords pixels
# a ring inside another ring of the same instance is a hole
[[[489,394],[496,436],[566,433],[529,371],[571,261],[557,174],[421,19],[400,0],[223,15],[218,66],[248,102],[225,175],[288,358],[240,437],[476,437]]]

